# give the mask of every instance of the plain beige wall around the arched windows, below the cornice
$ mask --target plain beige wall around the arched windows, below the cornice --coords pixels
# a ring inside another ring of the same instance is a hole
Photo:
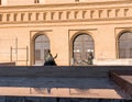
[[[90,34],[95,41],[95,64],[99,65],[120,65],[121,61],[124,65],[128,65],[128,63],[124,63],[124,60],[116,60],[117,59],[117,46],[116,46],[116,27],[119,26],[130,26],[131,24],[111,24],[111,25],[85,25],[85,27],[81,25],[75,25],[75,26],[25,26],[25,27],[13,27],[13,29],[0,29],[0,37],[1,39],[8,39],[7,41],[0,41],[1,53],[6,53],[6,55],[1,55],[1,63],[2,61],[10,61],[10,46],[13,48],[18,47],[18,50],[12,50],[12,61],[16,61],[16,65],[31,65],[33,64],[34,55],[33,52],[33,45],[31,45],[32,36],[31,33],[34,30],[37,30],[36,32],[44,31],[44,34],[46,34],[51,41],[51,50],[53,56],[58,54],[58,57],[56,59],[57,65],[64,66],[70,64],[70,41],[72,37],[76,34],[76,32],[80,33],[87,33]],[[47,30],[51,30],[50,32]],[[73,32],[73,30],[76,30]],[[107,32],[105,32],[107,30]],[[127,30],[127,29],[124,29]],[[72,31],[72,32],[70,32]],[[34,33],[35,34],[35,33]],[[10,38],[10,41],[9,41]],[[18,39],[18,43],[15,41]],[[12,39],[12,41],[11,41]],[[16,45],[15,45],[16,43]],[[26,50],[28,46],[28,50]],[[28,53],[28,54],[26,54]],[[28,61],[26,61],[28,58]],[[34,64],[33,64],[34,65]],[[129,64],[130,65],[130,64]]]

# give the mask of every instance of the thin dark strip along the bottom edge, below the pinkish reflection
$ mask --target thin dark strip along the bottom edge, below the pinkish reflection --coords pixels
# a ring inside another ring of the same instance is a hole
[[[116,99],[79,99],[79,98],[40,98],[40,97],[0,97],[1,102],[129,102]]]

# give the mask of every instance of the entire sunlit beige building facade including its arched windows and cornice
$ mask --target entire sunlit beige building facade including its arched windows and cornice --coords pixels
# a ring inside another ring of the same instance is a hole
[[[1,0],[0,63],[132,65],[131,0]]]

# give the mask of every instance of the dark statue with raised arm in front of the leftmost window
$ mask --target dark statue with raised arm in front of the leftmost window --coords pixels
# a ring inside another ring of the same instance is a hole
[[[55,58],[57,57],[57,54],[55,57],[52,56],[51,50],[47,50],[47,54],[45,56],[45,63],[44,66],[56,66]]]

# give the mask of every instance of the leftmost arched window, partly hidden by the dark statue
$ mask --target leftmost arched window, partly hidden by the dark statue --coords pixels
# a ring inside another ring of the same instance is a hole
[[[50,39],[46,35],[38,35],[35,38],[35,65],[43,65],[44,57],[50,49]]]

